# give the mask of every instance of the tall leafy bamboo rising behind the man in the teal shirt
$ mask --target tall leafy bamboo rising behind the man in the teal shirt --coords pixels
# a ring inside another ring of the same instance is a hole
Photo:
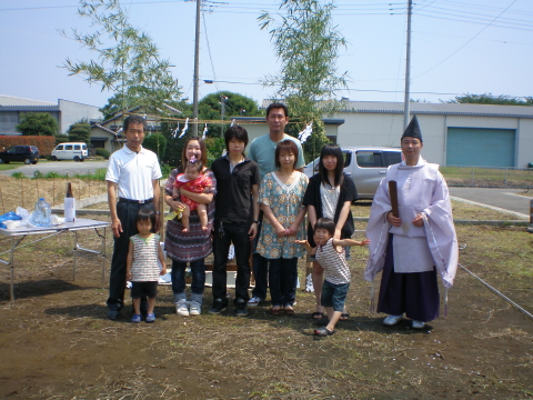
[[[332,23],[333,3],[282,0],[280,9],[285,17],[280,17],[279,23],[268,12],[258,18],[261,29],[270,29],[275,56],[281,61],[280,73],[266,77],[263,84],[280,86],[275,96],[285,99],[291,119],[295,120],[289,133],[294,136],[313,122],[313,134],[304,144],[306,159],[312,160],[328,142],[322,116],[341,108],[334,94],[346,87],[348,74],[338,76],[335,64],[339,49],[346,41]]]

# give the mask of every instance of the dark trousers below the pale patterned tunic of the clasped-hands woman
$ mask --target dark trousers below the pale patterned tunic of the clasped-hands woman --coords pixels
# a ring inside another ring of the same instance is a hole
[[[272,306],[292,307],[296,297],[298,258],[270,259],[269,287]]]

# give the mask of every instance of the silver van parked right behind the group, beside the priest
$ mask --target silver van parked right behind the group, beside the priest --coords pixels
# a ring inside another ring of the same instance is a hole
[[[346,147],[344,172],[352,177],[360,199],[373,199],[386,167],[402,161],[402,150],[386,147]],[[319,158],[303,169],[308,177],[319,172]]]

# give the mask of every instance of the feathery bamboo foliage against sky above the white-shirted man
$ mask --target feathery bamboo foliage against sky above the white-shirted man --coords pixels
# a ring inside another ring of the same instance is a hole
[[[161,60],[152,39],[130,24],[119,0],[80,0],[80,4],[78,13],[99,28],[92,33],[72,29],[72,37],[98,58],[89,62],[67,58],[62,67],[70,74],[84,74],[89,84],[120,93],[121,110],[140,103],[161,108],[165,100],[179,99],[170,61]],[[68,38],[64,30],[61,33]]]

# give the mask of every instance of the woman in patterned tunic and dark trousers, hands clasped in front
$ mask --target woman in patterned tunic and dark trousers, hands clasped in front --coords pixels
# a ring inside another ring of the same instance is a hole
[[[298,160],[296,144],[283,140],[275,148],[278,170],[266,173],[261,182],[259,202],[264,213],[258,252],[269,259],[269,287],[272,298],[271,313],[294,314],[298,258],[303,249],[294,242],[305,237],[302,206],[308,177],[294,169]]]

